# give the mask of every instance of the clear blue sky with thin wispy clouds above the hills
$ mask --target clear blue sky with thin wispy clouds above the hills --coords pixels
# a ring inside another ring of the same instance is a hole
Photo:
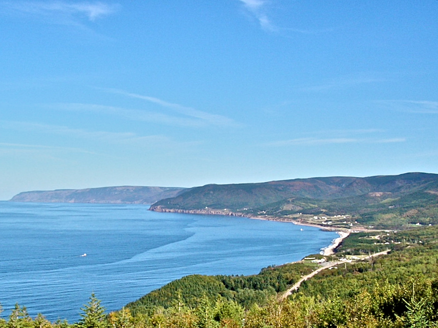
[[[438,1],[0,0],[0,199],[438,173]]]

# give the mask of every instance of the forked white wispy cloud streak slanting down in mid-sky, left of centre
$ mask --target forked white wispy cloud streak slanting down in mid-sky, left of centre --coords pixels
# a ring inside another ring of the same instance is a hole
[[[172,122],[177,123],[179,125],[191,125],[191,126],[222,126],[222,127],[237,127],[239,126],[234,120],[218,115],[218,114],[210,114],[205,111],[201,111],[198,109],[194,109],[191,107],[186,107],[180,104],[167,102],[165,100],[141,95],[137,93],[131,93],[123,90],[117,89],[101,89],[104,91],[121,94],[130,98],[142,99],[149,103],[156,104],[162,108],[171,109],[173,112],[178,113],[182,116],[174,116],[174,115],[164,115],[162,113],[148,113],[147,116],[143,116],[148,119],[161,119],[163,122]],[[124,111],[127,113],[127,111]],[[134,113],[132,110],[128,110],[128,112]],[[145,115],[144,111],[136,110],[135,113]]]

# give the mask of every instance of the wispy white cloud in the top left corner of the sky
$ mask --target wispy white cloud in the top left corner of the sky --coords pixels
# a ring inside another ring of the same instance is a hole
[[[114,13],[118,5],[100,1],[3,1],[3,9],[44,19],[50,23],[84,27],[84,19],[94,21]]]

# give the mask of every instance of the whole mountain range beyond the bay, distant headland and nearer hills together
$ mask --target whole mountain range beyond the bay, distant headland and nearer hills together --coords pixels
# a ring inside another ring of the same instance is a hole
[[[316,177],[192,188],[58,189],[19,193],[11,201],[152,204],[150,210],[156,212],[292,220],[332,229],[353,229],[357,224],[399,229],[438,224],[438,174]],[[321,218],[328,218],[327,222]]]

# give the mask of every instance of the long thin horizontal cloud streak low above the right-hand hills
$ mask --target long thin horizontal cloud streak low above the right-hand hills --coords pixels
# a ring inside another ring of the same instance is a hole
[[[357,139],[357,138],[298,138],[289,140],[279,140],[270,143],[265,143],[263,146],[284,147],[284,146],[319,146],[330,144],[386,144],[386,143],[401,143],[405,142],[405,138],[391,139]]]

